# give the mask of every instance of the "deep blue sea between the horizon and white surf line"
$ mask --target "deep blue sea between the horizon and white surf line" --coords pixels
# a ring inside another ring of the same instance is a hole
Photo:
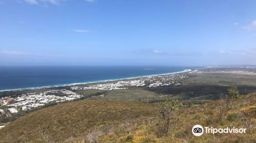
[[[0,66],[0,90],[65,86],[195,69],[191,66]]]

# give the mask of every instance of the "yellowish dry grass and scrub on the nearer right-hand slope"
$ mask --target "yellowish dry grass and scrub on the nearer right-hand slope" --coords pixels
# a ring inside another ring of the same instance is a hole
[[[250,94],[236,101],[231,110],[219,118],[219,102],[182,108],[177,112],[177,116],[172,119],[170,131],[166,136],[158,137],[158,118],[144,118],[143,124],[138,125],[138,119],[132,124],[127,124],[127,128],[122,132],[110,132],[99,139],[99,142],[256,142],[256,114],[255,102],[256,94]],[[251,101],[249,104],[247,101]],[[241,109],[250,113],[251,128],[247,126],[247,121],[241,117]],[[235,120],[229,121],[229,114],[237,114]],[[141,120],[141,119],[140,119]],[[177,121],[177,122],[176,122]],[[214,128],[247,128],[245,134],[203,134],[196,137],[191,133],[194,125],[200,124],[205,127]],[[129,128],[128,128],[129,127]],[[116,128],[118,130],[118,128]]]

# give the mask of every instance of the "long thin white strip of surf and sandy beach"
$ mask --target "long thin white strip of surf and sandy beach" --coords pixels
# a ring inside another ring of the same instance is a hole
[[[82,85],[82,84],[90,84],[90,83],[112,82],[112,81],[119,81],[119,80],[131,80],[131,79],[146,78],[146,77],[155,77],[155,76],[182,74],[182,73],[188,73],[188,72],[193,71],[193,70],[194,70],[194,69],[184,69],[184,70],[182,70],[182,71],[176,71],[176,72],[173,72],[173,73],[165,73],[165,74],[155,74],[155,75],[146,75],[146,76],[137,76],[137,77],[129,77],[129,78],[110,79],[110,80],[98,80],[98,81],[92,81],[92,82],[81,82],[81,83],[71,83],[71,84],[59,84],[59,85],[49,85],[49,86],[39,86],[39,87],[27,87],[27,88],[6,89],[6,90],[0,90],[0,92],[5,92],[5,91],[34,90],[34,89],[44,89],[44,88],[54,88],[54,87],[65,87],[65,86],[74,86],[74,85]]]

